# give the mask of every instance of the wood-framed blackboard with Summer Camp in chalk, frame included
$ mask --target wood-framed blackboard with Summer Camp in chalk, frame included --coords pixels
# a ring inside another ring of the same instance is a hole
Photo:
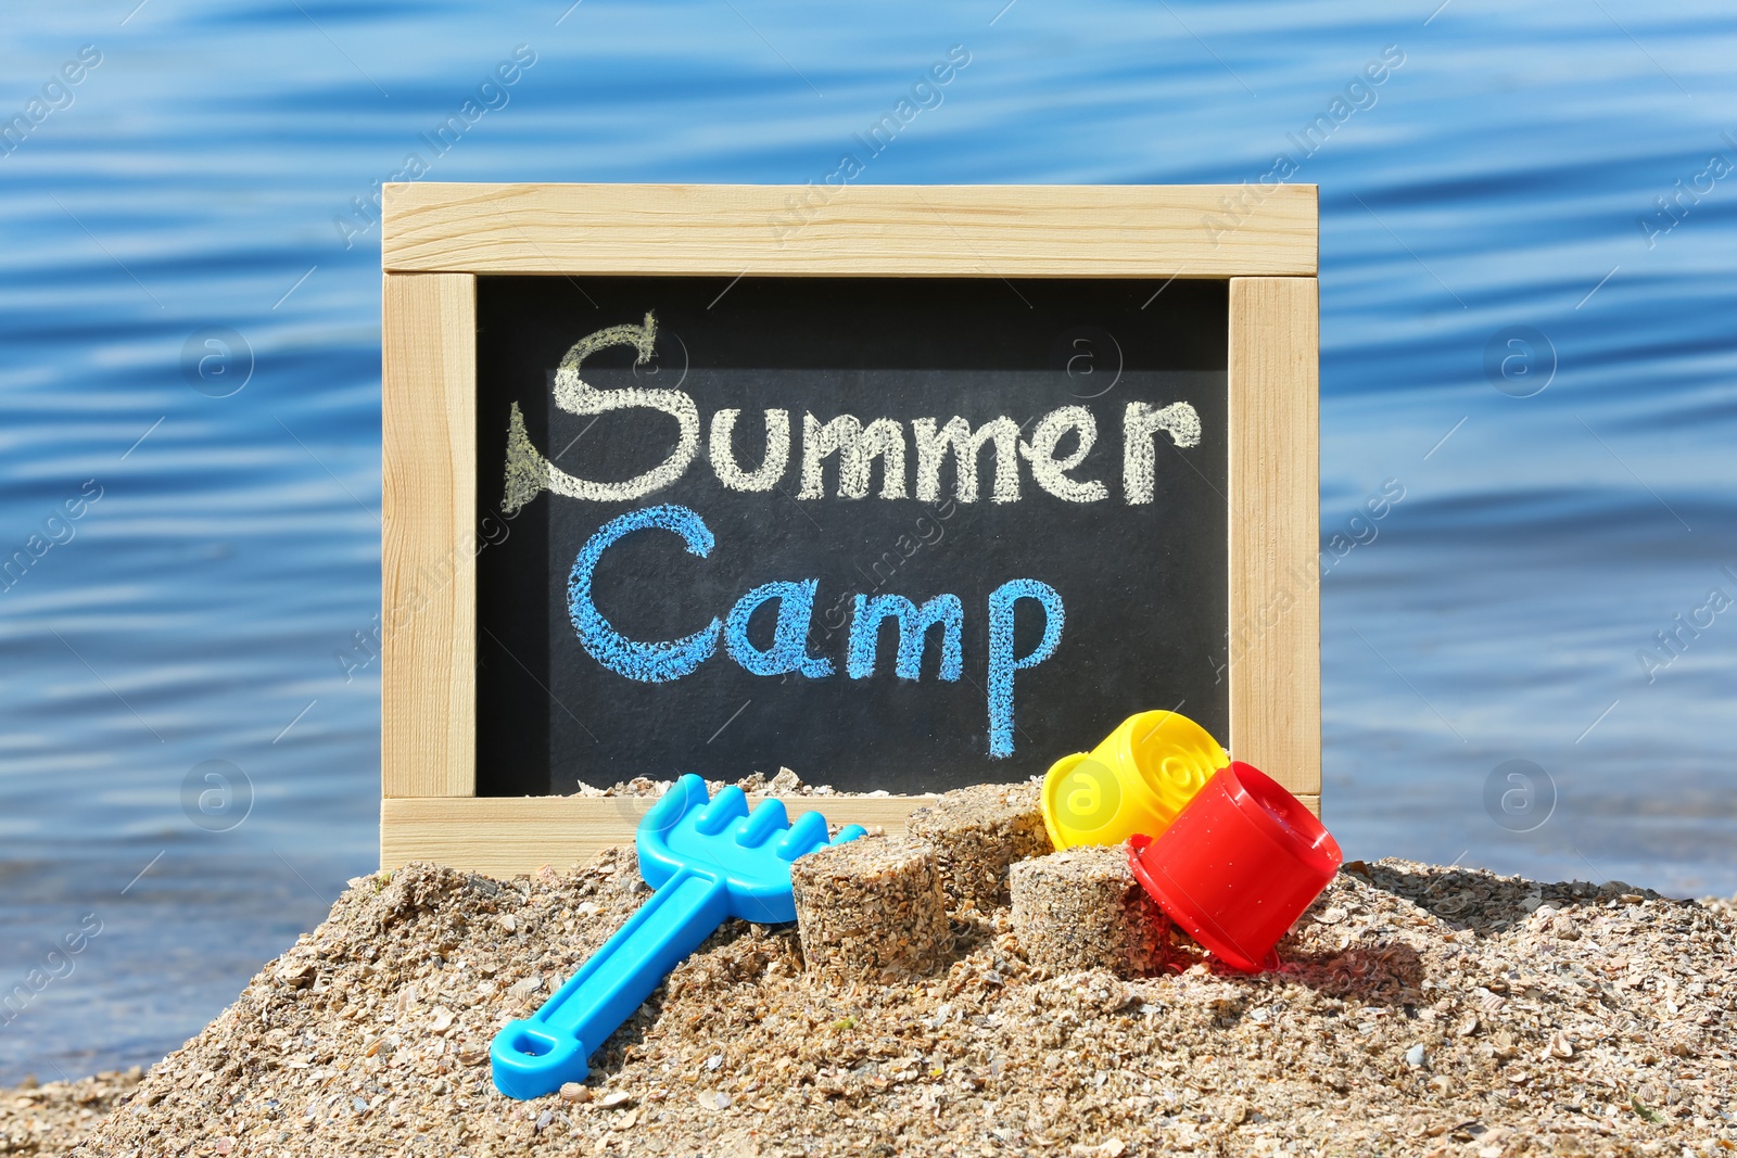
[[[679,773],[898,832],[1148,708],[1318,809],[1318,193],[1256,193],[386,186],[382,868]]]

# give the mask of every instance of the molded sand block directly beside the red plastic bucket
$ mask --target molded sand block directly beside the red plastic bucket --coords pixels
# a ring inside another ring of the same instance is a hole
[[[849,847],[849,845],[844,845]],[[1169,920],[1127,866],[1127,849],[1080,845],[1013,866],[1013,934],[1034,965],[1155,972]]]

